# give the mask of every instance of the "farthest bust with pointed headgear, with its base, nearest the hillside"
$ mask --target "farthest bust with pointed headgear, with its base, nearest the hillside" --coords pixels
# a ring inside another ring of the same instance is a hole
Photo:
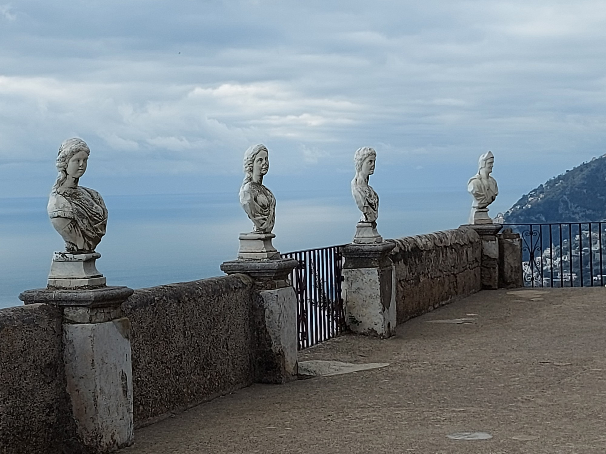
[[[482,154],[478,162],[478,173],[467,183],[467,192],[473,197],[471,203],[470,224],[491,224],[488,217],[488,205],[499,195],[496,180],[490,176],[494,166],[494,155],[491,151]]]

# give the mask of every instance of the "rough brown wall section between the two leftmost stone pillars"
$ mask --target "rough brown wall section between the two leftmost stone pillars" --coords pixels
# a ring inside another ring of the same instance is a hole
[[[242,274],[128,298],[135,427],[253,383],[253,298],[253,281]]]

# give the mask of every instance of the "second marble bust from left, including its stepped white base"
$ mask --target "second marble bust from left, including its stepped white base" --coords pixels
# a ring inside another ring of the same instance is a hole
[[[253,222],[253,231],[241,233],[238,258],[246,260],[276,259],[280,253],[271,244],[276,222],[276,198],[263,184],[269,170],[269,152],[265,145],[253,145],[244,153],[244,181],[240,188],[240,205]]]

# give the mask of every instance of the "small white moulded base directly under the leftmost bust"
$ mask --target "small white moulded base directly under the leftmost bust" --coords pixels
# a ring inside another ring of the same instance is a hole
[[[48,288],[101,288],[105,285],[105,277],[97,271],[95,265],[95,261],[99,257],[101,257],[99,252],[86,254],[55,252],[48,274]]]

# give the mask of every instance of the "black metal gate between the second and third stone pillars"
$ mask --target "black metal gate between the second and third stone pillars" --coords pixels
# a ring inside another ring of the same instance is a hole
[[[336,337],[345,329],[341,247],[282,254],[298,262],[290,277],[297,294],[299,350]]]

